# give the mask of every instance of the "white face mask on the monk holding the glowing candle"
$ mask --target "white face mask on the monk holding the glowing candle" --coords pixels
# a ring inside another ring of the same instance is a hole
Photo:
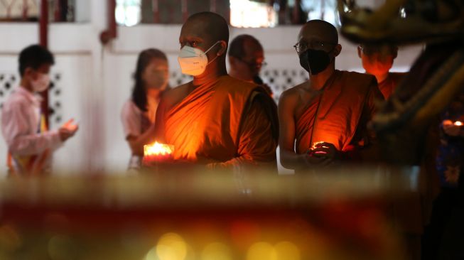
[[[212,61],[218,57],[216,56],[208,63],[206,53],[210,51],[217,43],[220,43],[220,41],[218,40],[205,52],[198,48],[193,48],[187,45],[183,46],[183,48],[180,49],[179,57],[177,58],[180,68],[182,69],[182,73],[198,76],[205,72],[206,66],[212,63]]]

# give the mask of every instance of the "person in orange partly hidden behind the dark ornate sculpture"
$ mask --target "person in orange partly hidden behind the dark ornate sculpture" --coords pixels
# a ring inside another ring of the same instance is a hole
[[[398,47],[387,44],[361,44],[357,47],[357,55],[361,58],[362,67],[366,73],[375,76],[380,92],[385,99],[388,99],[406,75],[401,72],[390,72],[394,59],[398,55]]]

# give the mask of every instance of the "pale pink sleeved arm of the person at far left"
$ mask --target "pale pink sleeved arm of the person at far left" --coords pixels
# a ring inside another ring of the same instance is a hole
[[[4,107],[2,111],[1,130],[9,152],[26,156],[58,148],[62,144],[59,131],[31,134],[25,111],[26,109],[20,104],[11,104],[9,107]]]

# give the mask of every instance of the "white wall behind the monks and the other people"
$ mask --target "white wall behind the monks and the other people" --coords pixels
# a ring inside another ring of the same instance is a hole
[[[99,33],[105,27],[104,1],[91,1],[89,23],[50,26],[50,50],[55,53],[53,71],[63,74],[63,117],[80,120],[80,131],[55,154],[60,170],[122,171],[129,159],[119,112],[129,98],[136,55],[144,48],[164,50],[172,71],[180,71],[176,56],[180,26],[141,25],[119,28],[117,40],[103,47]],[[300,69],[293,49],[298,27],[231,29],[231,39],[241,33],[257,37],[265,49],[268,69]],[[0,72],[16,72],[18,52],[37,43],[38,26],[32,23],[0,23]],[[361,71],[356,45],[341,40],[337,67]],[[420,47],[400,49],[396,70],[407,70]],[[175,81],[171,81],[175,85]],[[6,147],[0,142],[0,172],[4,172]]]

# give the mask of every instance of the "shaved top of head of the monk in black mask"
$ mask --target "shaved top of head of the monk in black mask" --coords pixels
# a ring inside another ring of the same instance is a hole
[[[316,38],[327,43],[338,43],[337,28],[323,20],[307,21],[301,28],[298,40],[301,38]]]

